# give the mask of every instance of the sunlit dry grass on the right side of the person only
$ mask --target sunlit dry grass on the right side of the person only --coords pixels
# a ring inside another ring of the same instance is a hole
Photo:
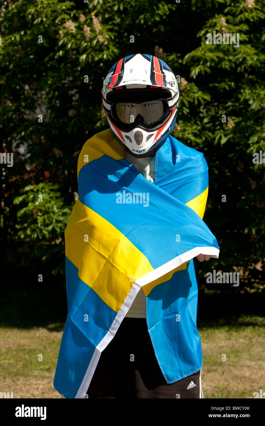
[[[249,322],[256,325],[245,325]],[[253,398],[253,392],[265,390],[264,318],[243,315],[236,326],[202,328],[199,333],[204,398]]]

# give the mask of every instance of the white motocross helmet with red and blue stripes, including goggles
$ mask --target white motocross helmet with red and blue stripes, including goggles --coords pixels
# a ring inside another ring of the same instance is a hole
[[[141,157],[161,146],[177,117],[179,87],[167,64],[152,55],[129,55],[111,67],[101,91],[114,137]]]

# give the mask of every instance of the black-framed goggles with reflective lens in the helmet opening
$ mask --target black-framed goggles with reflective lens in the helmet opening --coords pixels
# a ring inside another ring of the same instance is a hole
[[[164,99],[156,99],[141,103],[116,102],[111,106],[111,115],[123,124],[134,124],[142,121],[147,127],[163,121],[168,115],[168,104]]]

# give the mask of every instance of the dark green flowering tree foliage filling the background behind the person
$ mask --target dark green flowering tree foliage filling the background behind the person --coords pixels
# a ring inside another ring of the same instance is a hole
[[[208,162],[204,220],[220,257],[200,265],[199,276],[211,267],[229,272],[264,265],[265,169],[253,163],[255,152],[265,152],[264,17],[261,0],[9,0],[0,17],[0,132],[4,149],[14,152],[1,212],[9,259],[18,261],[25,238],[32,268],[51,261],[54,251],[63,253],[78,153],[107,128],[103,78],[119,58],[140,52],[162,58],[179,76],[173,136]],[[239,34],[239,46],[206,44],[214,31]],[[34,204],[35,186],[49,183],[57,195],[45,185],[43,193],[54,201]],[[19,194],[28,203],[23,213],[13,204]],[[55,271],[47,265],[47,273]]]

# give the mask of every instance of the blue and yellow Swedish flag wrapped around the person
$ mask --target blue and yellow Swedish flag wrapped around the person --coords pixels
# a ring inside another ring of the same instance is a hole
[[[141,287],[165,382],[199,371],[193,258],[219,255],[202,221],[203,154],[169,136],[156,153],[151,183],[108,129],[86,141],[77,169],[79,199],[65,231],[68,315],[54,387],[66,398],[85,397],[101,352]]]

